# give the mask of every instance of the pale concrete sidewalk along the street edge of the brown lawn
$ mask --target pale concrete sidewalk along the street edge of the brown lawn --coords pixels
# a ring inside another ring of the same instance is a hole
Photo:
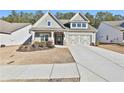
[[[0,81],[79,81],[75,63],[0,65]]]

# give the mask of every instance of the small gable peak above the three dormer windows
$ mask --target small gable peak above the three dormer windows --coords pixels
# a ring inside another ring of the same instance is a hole
[[[81,13],[76,13],[70,20],[70,22],[90,22],[85,15]]]

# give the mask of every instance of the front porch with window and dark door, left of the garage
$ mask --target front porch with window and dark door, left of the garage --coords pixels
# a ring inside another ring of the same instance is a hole
[[[32,41],[52,41],[54,45],[65,45],[64,32],[33,32]]]

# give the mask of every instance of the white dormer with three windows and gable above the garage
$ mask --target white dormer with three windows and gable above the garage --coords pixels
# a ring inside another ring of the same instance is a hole
[[[69,22],[71,29],[88,29],[89,20],[81,13],[76,13]]]

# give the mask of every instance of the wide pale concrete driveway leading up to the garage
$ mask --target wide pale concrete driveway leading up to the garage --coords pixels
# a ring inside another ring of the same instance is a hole
[[[124,55],[92,46],[69,47],[83,82],[124,81]]]

